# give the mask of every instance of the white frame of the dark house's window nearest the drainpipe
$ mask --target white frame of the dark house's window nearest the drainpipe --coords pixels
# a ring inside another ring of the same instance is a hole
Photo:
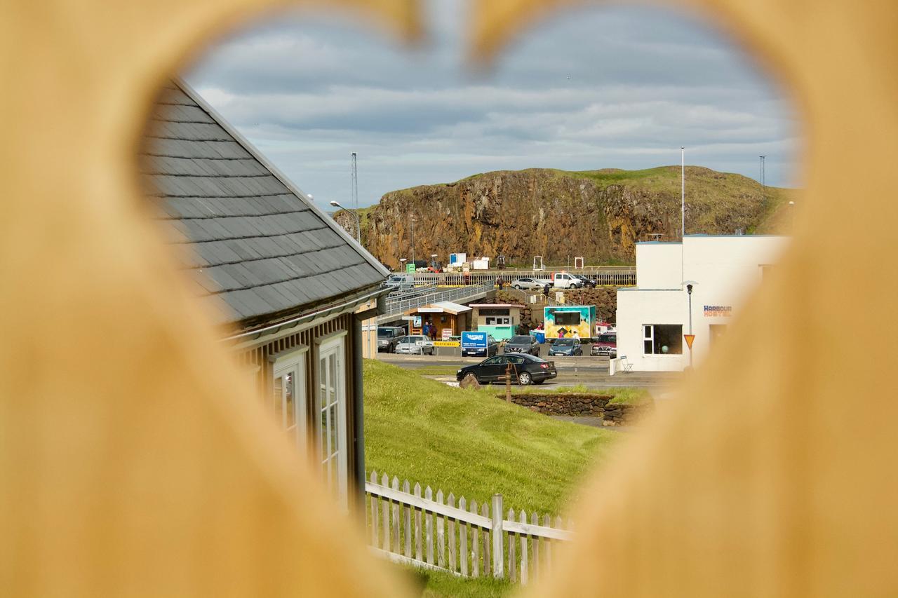
[[[347,368],[346,331],[330,335],[318,342],[315,355],[315,452],[321,465],[324,482],[336,490],[340,506],[348,508],[348,425],[347,425]],[[335,360],[335,377],[330,380],[330,367],[322,367],[322,360]],[[332,393],[332,399],[331,399]],[[323,405],[322,394],[328,397]],[[336,409],[333,409],[336,407]],[[336,416],[333,411],[336,410]],[[322,421],[322,416],[324,421]],[[332,419],[336,417],[337,421]],[[334,428],[336,426],[336,428]],[[327,427],[327,429],[325,429]],[[336,429],[337,446],[331,445],[331,432]],[[325,454],[327,453],[327,454]],[[337,460],[337,479],[333,479],[331,461]]]

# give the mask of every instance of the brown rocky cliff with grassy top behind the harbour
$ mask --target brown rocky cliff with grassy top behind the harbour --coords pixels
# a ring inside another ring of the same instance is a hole
[[[772,232],[788,189],[738,174],[686,167],[686,233]],[[634,243],[680,237],[680,167],[646,171],[497,171],[392,191],[362,214],[365,247],[391,268],[410,259],[505,255],[525,265],[584,256],[589,264],[632,263]],[[352,215],[338,213],[355,234]],[[414,219],[414,223],[412,223]]]

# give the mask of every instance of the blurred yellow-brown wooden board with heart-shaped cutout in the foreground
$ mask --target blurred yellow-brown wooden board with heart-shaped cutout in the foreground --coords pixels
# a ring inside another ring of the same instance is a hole
[[[220,367],[145,218],[135,155],[156,90],[225,31],[327,5],[412,40],[417,4],[4,7],[4,594],[401,594]],[[472,52],[573,4],[474,2]],[[535,595],[894,595],[898,4],[689,5],[797,102],[797,238],[682,409],[594,483],[572,558]]]

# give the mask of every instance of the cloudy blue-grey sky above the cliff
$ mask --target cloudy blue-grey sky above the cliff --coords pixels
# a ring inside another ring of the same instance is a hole
[[[211,48],[185,79],[321,207],[524,168],[686,163],[797,186],[786,94],[692,15],[593,6],[525,31],[489,71],[467,61],[466,4],[428,0],[408,48],[357,22],[282,14]]]

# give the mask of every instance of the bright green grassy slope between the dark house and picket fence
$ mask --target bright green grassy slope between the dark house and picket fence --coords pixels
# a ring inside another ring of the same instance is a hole
[[[620,438],[365,360],[365,467],[506,509],[559,514]]]

